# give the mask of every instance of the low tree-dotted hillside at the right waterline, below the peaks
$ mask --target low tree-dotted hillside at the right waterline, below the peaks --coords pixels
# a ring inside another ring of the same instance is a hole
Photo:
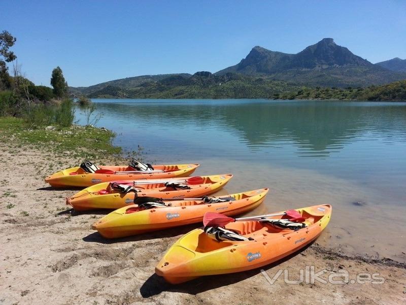
[[[301,87],[289,93],[275,94],[273,99],[282,100],[359,100],[359,101],[404,101],[406,102],[406,80],[382,86],[365,88],[347,87]]]

